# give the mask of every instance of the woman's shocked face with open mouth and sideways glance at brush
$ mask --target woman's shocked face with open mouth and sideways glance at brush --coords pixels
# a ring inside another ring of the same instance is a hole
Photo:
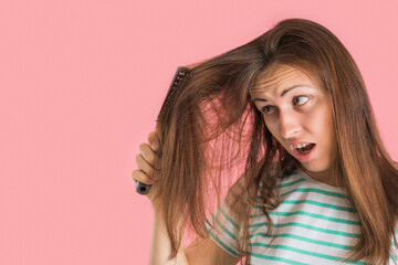
[[[250,95],[268,129],[301,168],[314,179],[335,186],[332,108],[315,78],[297,67],[274,65],[260,75]],[[297,141],[315,144],[306,159],[293,149]]]

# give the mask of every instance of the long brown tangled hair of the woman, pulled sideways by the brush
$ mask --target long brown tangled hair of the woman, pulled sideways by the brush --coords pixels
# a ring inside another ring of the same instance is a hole
[[[250,252],[245,240],[254,203],[262,205],[270,233],[268,211],[281,202],[277,177],[300,163],[272,136],[249,94],[260,73],[276,64],[311,72],[331,99],[335,176],[360,222],[360,237],[346,261],[388,264],[392,236],[397,244],[397,162],[381,141],[353,57],[329,30],[304,19],[283,20],[244,45],[186,66],[191,72],[157,126],[163,156],[154,203],[170,239],[169,258],[181,246],[184,227],[175,225],[180,220],[197,235],[209,236],[207,206],[214,198],[220,202],[232,179],[224,170],[232,167],[239,181],[227,186],[235,195],[228,192],[226,199],[244,227],[239,254]]]

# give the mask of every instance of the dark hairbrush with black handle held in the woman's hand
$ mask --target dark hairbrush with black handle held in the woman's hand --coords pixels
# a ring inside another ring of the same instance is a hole
[[[185,67],[185,66],[178,66],[177,67],[175,76],[172,77],[171,84],[170,84],[169,89],[168,89],[168,92],[166,94],[166,98],[165,98],[165,100],[164,100],[164,103],[161,105],[159,115],[157,117],[157,120],[156,120],[157,123],[160,123],[160,124],[163,123],[165,113],[168,112],[168,109],[170,108],[170,106],[171,106],[171,104],[174,102],[176,91],[179,87],[181,87],[181,84],[187,78],[189,73],[190,73],[190,68],[188,68],[188,67]],[[156,155],[159,155],[157,151],[158,150],[155,150]],[[151,184],[146,184],[146,183],[143,183],[140,181],[137,181],[137,184],[136,184],[135,189],[136,189],[136,192],[138,192],[139,194],[148,194],[150,187],[151,187]]]

